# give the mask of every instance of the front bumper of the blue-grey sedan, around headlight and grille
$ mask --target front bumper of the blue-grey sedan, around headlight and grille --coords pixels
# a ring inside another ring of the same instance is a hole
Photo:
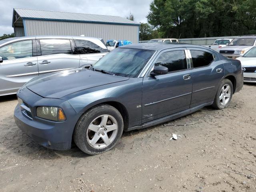
[[[67,150],[71,148],[72,134],[79,118],[72,106],[64,100],[42,98],[32,91],[24,88],[17,96],[24,100],[31,109],[32,119],[28,118],[18,104],[14,110],[15,122],[36,143],[55,150]],[[30,99],[29,99],[30,98]],[[66,121],[54,122],[36,117],[36,106],[60,106],[66,115]]]

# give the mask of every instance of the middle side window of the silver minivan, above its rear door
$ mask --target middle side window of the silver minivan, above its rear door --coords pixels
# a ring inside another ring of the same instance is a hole
[[[72,54],[69,39],[40,39],[41,55]]]

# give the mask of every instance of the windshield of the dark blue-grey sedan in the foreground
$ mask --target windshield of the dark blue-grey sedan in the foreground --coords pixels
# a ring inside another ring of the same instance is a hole
[[[116,48],[96,62],[93,68],[117,76],[136,77],[153,54],[154,51],[149,50]]]

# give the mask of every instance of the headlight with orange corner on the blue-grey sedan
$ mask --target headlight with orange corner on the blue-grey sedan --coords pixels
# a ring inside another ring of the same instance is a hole
[[[42,106],[36,108],[36,116],[52,121],[65,121],[66,116],[60,107]]]

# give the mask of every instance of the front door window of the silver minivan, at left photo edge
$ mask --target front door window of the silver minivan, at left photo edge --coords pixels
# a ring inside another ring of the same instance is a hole
[[[19,41],[0,48],[3,60],[28,58],[33,56],[32,40]]]

